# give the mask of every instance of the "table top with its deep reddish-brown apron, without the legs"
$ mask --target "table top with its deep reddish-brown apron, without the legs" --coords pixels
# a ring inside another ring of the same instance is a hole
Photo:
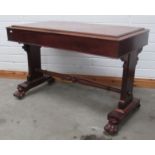
[[[119,58],[148,44],[145,28],[48,21],[7,27],[8,39],[24,44]]]

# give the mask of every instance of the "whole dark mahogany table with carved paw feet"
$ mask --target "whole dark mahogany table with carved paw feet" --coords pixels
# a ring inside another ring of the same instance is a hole
[[[149,30],[136,27],[86,24],[76,22],[40,22],[7,27],[8,40],[23,43],[28,56],[28,77],[19,84],[14,96],[23,98],[28,90],[48,81],[52,76],[104,88],[120,93],[115,110],[108,114],[105,131],[116,134],[127,116],[140,107],[134,98],[133,81],[138,54],[148,44]],[[77,52],[121,59],[124,62],[121,89],[69,74],[60,74],[41,69],[40,48],[54,47]]]

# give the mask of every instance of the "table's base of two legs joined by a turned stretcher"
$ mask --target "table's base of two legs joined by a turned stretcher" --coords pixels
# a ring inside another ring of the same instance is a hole
[[[53,83],[54,79],[51,77],[51,75],[61,78],[62,80],[81,83],[121,93],[118,108],[108,114],[108,124],[104,127],[105,131],[110,135],[117,134],[120,124],[123,122],[123,120],[125,120],[125,118],[127,118],[130,113],[140,107],[140,100],[133,98],[132,90],[135,67],[138,61],[138,54],[141,50],[130,52],[121,58],[124,64],[122,88],[120,90],[118,88],[109,87],[96,81],[88,80],[87,78],[82,78],[75,75],[43,71],[41,70],[40,65],[41,62],[39,47],[24,45],[23,49],[28,54],[29,76],[28,80],[20,84],[17,88],[17,91],[14,93],[14,96],[19,99],[22,99],[28,90],[40,85],[45,81],[48,81],[49,84]]]

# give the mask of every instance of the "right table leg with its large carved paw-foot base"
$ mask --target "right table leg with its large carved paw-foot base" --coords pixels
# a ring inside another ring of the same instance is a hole
[[[135,68],[140,51],[141,49],[122,57],[124,65],[120,101],[118,107],[108,114],[108,124],[104,127],[110,135],[117,134],[122,121],[140,107],[140,100],[133,97]]]

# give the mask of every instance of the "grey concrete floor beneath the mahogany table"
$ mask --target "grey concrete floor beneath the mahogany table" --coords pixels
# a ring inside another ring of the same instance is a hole
[[[0,139],[155,139],[155,89],[135,88],[141,108],[116,136],[103,134],[119,95],[79,84],[46,83],[23,100],[13,97],[20,80],[0,79]]]

